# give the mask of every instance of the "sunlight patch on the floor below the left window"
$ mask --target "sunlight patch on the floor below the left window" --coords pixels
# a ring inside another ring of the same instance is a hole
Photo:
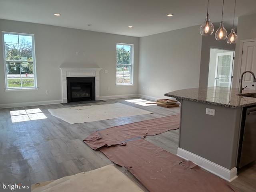
[[[10,114],[12,123],[47,119],[45,114],[39,108],[10,111]]]

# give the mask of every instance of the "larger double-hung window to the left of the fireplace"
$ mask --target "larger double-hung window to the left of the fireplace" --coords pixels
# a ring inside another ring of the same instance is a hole
[[[2,32],[6,89],[37,88],[34,35]]]

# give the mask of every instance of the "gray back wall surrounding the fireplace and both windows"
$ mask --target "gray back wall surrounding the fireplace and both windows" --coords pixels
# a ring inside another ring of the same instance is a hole
[[[138,92],[139,38],[50,25],[0,20],[0,31],[34,34],[36,91],[4,91],[4,59],[0,39],[0,104],[62,99],[61,64],[96,64],[100,72],[100,96]],[[134,44],[134,86],[116,87],[116,43]],[[75,52],[78,52],[78,55]],[[86,52],[86,56],[83,55]],[[104,74],[104,70],[108,70]],[[108,91],[110,87],[110,91]],[[46,94],[49,90],[49,94]]]

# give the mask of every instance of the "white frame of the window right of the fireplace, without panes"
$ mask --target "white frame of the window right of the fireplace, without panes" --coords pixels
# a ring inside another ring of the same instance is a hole
[[[134,68],[134,44],[128,44],[128,43],[116,43],[117,45],[128,45],[131,46],[131,52],[130,52],[130,64],[117,64],[116,66],[130,66],[130,83],[119,83],[117,84],[117,70],[116,70],[116,86],[134,86],[133,83],[133,68]],[[117,52],[116,52],[117,56]]]

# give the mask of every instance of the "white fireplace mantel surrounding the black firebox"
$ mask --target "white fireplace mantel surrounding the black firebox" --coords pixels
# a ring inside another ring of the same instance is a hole
[[[95,77],[95,100],[100,100],[100,70],[102,68],[60,67],[62,76],[62,103],[68,102],[67,77]]]

